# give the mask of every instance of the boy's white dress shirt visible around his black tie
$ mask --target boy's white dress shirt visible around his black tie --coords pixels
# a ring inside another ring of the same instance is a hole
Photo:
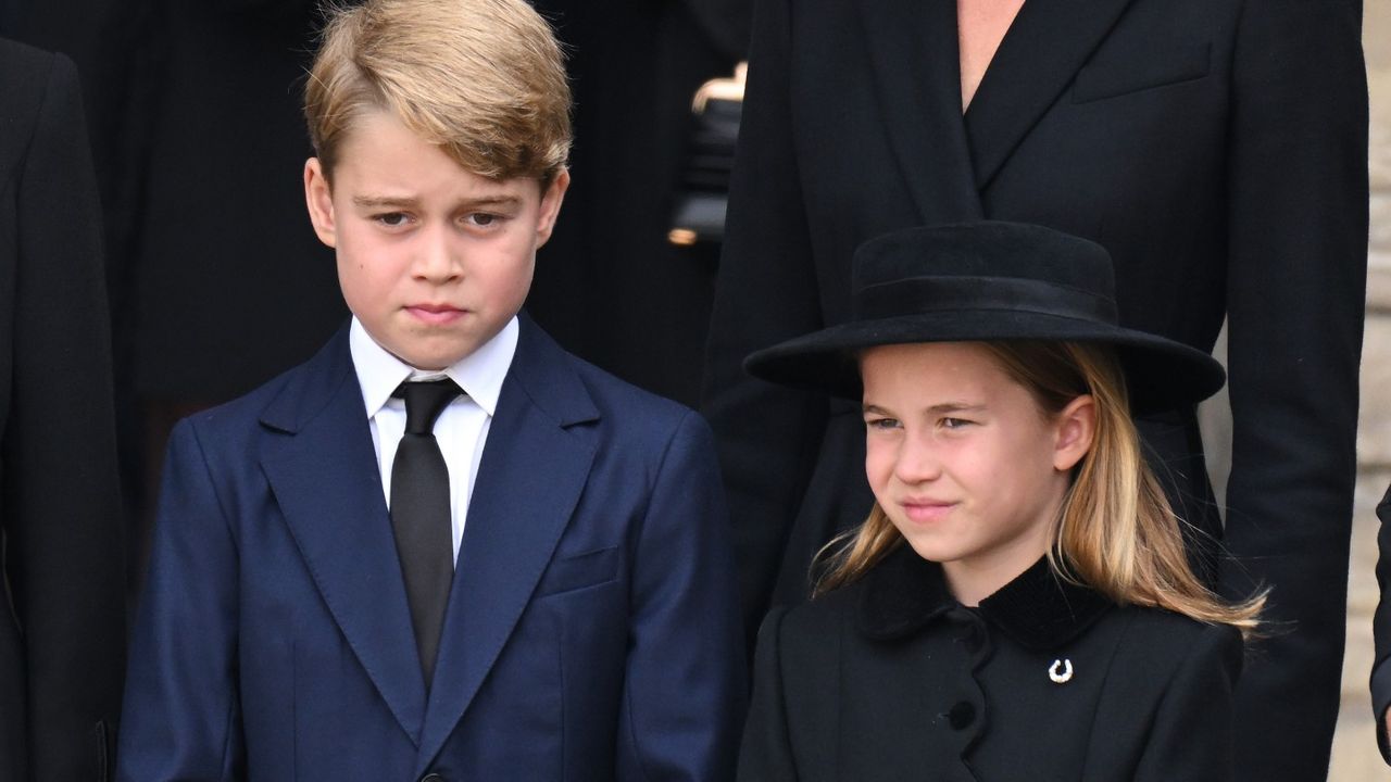
[[[449,518],[453,526],[453,559],[459,561],[463,540],[463,520],[473,497],[473,481],[479,477],[483,447],[488,440],[492,413],[498,409],[502,380],[512,366],[517,348],[517,319],[513,317],[497,337],[442,372],[415,369],[378,345],[362,323],[353,317],[348,333],[352,363],[362,385],[362,399],[371,426],[371,442],[381,470],[381,490],[391,506],[391,466],[396,461],[396,445],[406,431],[406,405],[391,394],[406,380],[440,380],[448,377],[465,391],[435,420],[435,440],[444,463],[449,469]]]

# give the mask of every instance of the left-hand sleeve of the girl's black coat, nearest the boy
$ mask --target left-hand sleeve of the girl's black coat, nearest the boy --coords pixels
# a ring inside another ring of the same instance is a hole
[[[786,608],[775,608],[758,629],[754,654],[754,694],[739,747],[740,782],[791,782],[797,765],[787,737],[787,700],[782,680],[782,619]]]

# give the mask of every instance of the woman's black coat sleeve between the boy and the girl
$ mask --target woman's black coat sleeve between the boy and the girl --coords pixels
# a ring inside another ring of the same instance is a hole
[[[748,90],[711,316],[704,412],[729,491],[750,636],[768,608],[783,544],[826,426],[825,398],[744,374],[750,352],[822,326],[791,147],[787,0],[758,3]]]

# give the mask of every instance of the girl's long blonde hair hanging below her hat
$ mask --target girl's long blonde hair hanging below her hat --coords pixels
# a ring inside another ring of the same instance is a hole
[[[1096,405],[1092,448],[1072,470],[1047,558],[1063,579],[1125,605],[1150,605],[1256,633],[1264,593],[1224,603],[1188,565],[1180,525],[1155,473],[1141,455],[1139,434],[1120,363],[1110,348],[1082,342],[981,342],[1004,372],[1027,388],[1045,415],[1091,395]],[[875,504],[857,529],[818,554],[825,575],[817,593],[849,584],[903,541]]]

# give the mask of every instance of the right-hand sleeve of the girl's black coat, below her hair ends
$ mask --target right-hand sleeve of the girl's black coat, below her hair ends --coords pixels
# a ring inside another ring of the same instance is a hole
[[[1237,630],[1225,625],[1203,628],[1164,687],[1134,782],[1234,779],[1232,690],[1241,658]]]

